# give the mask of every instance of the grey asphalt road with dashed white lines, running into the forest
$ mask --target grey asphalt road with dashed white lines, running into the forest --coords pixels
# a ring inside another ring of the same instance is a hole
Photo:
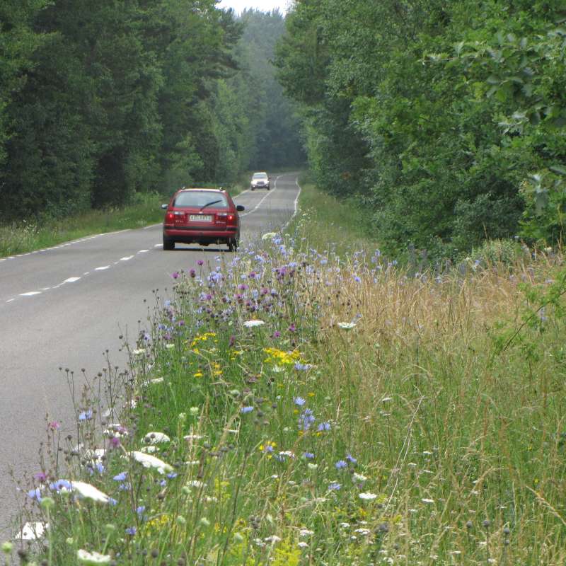
[[[247,190],[234,200],[241,212],[241,246],[282,228],[296,210],[296,173],[272,175],[272,190]],[[213,260],[226,246],[185,246],[164,252],[161,224],[99,234],[46,250],[0,259],[0,543],[18,509],[11,478],[39,469],[46,415],[72,427],[75,415],[59,367],[88,376],[126,367],[120,335],[135,340],[147,303],[171,288],[171,274]]]

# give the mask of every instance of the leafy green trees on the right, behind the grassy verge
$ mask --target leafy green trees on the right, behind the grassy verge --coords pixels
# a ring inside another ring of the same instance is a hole
[[[390,251],[562,236],[565,35],[555,0],[298,0],[276,64],[317,182]]]

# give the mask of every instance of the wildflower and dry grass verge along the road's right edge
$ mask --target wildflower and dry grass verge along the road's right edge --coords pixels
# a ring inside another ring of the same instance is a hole
[[[402,268],[352,208],[301,203],[286,233],[179,266],[129,369],[48,417],[7,560],[565,562],[562,255]]]

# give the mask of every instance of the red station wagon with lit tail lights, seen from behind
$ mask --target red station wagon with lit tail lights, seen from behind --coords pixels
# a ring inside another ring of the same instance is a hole
[[[163,250],[175,249],[175,242],[224,243],[230,251],[238,248],[240,218],[244,207],[234,204],[221,189],[180,189],[175,192],[163,219]]]

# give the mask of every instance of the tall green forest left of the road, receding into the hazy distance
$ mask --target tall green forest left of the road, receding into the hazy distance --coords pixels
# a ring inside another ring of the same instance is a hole
[[[283,32],[214,0],[3,0],[0,221],[294,165],[268,61]]]

